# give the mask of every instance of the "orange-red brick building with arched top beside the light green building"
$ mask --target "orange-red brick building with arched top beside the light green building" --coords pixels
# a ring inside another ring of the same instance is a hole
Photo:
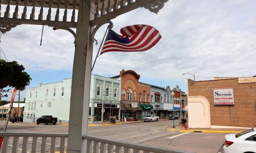
[[[121,80],[121,118],[127,121],[138,121],[152,114],[150,104],[151,86],[138,82],[140,75],[132,70],[122,70],[120,75],[112,77]]]

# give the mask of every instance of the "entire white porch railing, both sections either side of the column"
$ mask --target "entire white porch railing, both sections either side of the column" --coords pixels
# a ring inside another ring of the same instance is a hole
[[[65,139],[67,134],[60,133],[8,133],[0,132],[0,137],[3,137],[1,152],[52,152],[56,151],[56,140],[61,140],[59,151],[64,153]],[[51,140],[47,143],[47,140]],[[83,139],[87,140],[86,153],[188,153],[186,151],[172,150],[169,148],[151,147],[145,144],[129,143],[111,139],[102,139],[95,136],[84,135]],[[30,141],[30,143],[29,143]],[[32,143],[31,143],[32,141]],[[47,147],[48,144],[48,147]],[[41,145],[41,147],[40,147]]]

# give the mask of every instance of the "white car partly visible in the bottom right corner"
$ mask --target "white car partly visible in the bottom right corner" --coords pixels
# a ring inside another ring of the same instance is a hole
[[[256,128],[225,136],[224,153],[256,153]]]

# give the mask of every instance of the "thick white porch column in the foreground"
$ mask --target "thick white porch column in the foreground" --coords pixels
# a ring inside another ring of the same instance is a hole
[[[88,0],[88,3],[91,3],[91,0]],[[93,54],[88,49],[90,28],[90,9],[86,2],[80,0],[67,141],[67,152],[72,153],[86,152],[86,140],[83,140],[82,136],[87,134],[88,131],[91,60]]]

